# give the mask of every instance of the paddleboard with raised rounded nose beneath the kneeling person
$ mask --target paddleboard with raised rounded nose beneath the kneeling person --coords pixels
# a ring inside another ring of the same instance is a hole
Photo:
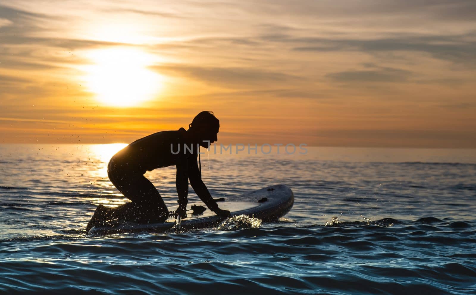
[[[294,203],[294,194],[286,185],[278,184],[244,193],[238,196],[229,196],[224,201],[217,201],[220,209],[229,210],[231,216],[246,215],[272,221],[279,219],[289,212]],[[192,205],[203,205],[203,203],[189,203],[187,209]],[[172,207],[172,210],[178,206]],[[211,228],[218,226],[226,218],[219,217],[209,209],[200,215],[191,215],[187,211],[187,218],[182,219],[180,226],[183,229]],[[111,226],[93,227],[89,230],[89,235],[100,236],[115,233],[137,233],[153,232],[160,233],[173,228],[175,219],[168,219],[163,223],[138,224],[134,222],[115,223]]]

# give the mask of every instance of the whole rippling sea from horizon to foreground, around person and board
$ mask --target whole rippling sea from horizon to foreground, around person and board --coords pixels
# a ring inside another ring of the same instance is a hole
[[[475,150],[210,152],[214,197],[286,184],[291,211],[88,237],[98,204],[128,201],[106,171],[123,146],[0,145],[0,293],[476,294]],[[177,204],[174,167],[146,176]]]

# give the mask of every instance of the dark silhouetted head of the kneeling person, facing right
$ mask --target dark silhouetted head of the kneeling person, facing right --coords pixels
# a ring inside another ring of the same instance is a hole
[[[213,112],[203,111],[193,118],[192,123],[188,124],[188,132],[191,132],[201,146],[208,148],[209,141],[214,143],[218,140],[217,133],[220,129],[220,121],[213,115]]]

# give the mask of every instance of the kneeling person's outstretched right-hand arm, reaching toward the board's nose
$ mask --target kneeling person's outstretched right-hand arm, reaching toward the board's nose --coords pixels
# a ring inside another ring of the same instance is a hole
[[[190,156],[188,160],[188,178],[190,180],[192,189],[198,195],[200,200],[202,200],[205,205],[207,205],[208,209],[220,216],[230,216],[229,211],[218,208],[217,202],[213,200],[210,192],[207,189],[207,186],[205,183],[203,183],[200,177],[200,172],[198,171],[197,155]]]

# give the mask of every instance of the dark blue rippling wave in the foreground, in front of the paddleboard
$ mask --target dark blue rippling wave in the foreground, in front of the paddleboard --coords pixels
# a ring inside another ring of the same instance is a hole
[[[466,226],[455,227],[456,222]],[[470,262],[475,242],[472,221],[432,217],[395,226],[30,237],[1,242],[0,289],[9,294],[208,294],[211,287],[226,294],[469,295],[475,290],[476,267]]]

